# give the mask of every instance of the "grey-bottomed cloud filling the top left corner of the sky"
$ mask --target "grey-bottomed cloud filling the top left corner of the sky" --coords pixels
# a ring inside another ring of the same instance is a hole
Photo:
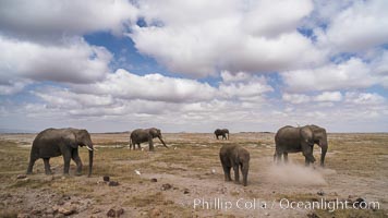
[[[137,9],[126,0],[3,0],[0,32],[29,38],[53,38],[97,31],[121,34]]]

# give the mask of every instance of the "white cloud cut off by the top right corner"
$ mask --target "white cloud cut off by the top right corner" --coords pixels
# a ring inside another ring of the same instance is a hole
[[[362,51],[387,44],[388,1],[353,1],[349,4],[332,14],[326,31],[317,32],[318,43],[340,52]]]

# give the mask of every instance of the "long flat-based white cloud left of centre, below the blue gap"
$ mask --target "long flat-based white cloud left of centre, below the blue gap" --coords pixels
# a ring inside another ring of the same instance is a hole
[[[122,69],[108,74],[105,81],[73,87],[78,92],[109,94],[124,99],[171,102],[208,100],[216,95],[216,89],[207,83],[168,77],[157,73],[141,76]]]

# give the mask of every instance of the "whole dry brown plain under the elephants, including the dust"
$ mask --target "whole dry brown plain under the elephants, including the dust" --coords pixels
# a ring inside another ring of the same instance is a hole
[[[92,134],[98,149],[92,178],[87,149],[80,148],[84,175],[74,175],[72,162],[71,175],[63,177],[63,159],[57,157],[50,160],[53,175],[38,160],[34,174],[17,179],[34,137],[0,135],[0,217],[388,217],[388,134],[329,134],[325,169],[304,167],[302,154],[290,154],[287,166],[274,165],[272,133],[237,133],[229,141],[171,133],[165,134],[170,148],[154,153],[147,144],[130,150],[128,133]],[[250,150],[247,186],[223,181],[218,152],[225,143]],[[316,146],[317,160],[319,152]],[[368,209],[332,207],[336,199],[359,197]],[[296,208],[298,202],[303,206]]]

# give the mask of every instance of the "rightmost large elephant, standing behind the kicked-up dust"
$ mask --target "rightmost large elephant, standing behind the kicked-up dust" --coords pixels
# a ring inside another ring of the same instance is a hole
[[[314,144],[322,148],[320,166],[325,167],[325,156],[328,148],[327,134],[324,128],[317,125],[305,125],[302,128],[293,128],[290,125],[278,130],[275,135],[276,152],[274,160],[278,162],[283,155],[284,161],[288,161],[288,153],[303,153],[305,165],[315,162],[313,156]]]

